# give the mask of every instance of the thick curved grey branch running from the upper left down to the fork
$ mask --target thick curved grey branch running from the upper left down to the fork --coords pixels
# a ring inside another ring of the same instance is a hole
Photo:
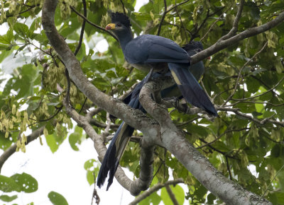
[[[55,28],[54,14],[57,3],[58,1],[45,0],[42,15],[43,29],[45,30],[48,40],[50,40],[50,44],[54,47],[55,51],[58,52],[68,69],[72,81],[95,105],[107,110],[111,115],[124,119],[131,127],[143,131],[143,128],[146,129],[150,123],[153,124],[142,112],[131,109],[119,100],[112,99],[109,95],[95,88],[94,85],[87,80],[80,68],[80,62],[77,61],[75,55],[71,52],[65,40],[59,35],[58,30]],[[137,121],[137,117],[141,120]]]

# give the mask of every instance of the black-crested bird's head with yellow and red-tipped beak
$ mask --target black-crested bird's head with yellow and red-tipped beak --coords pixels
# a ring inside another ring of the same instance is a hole
[[[124,15],[124,13],[111,12],[111,23],[106,26],[107,30],[110,30],[119,37],[120,35],[129,33],[131,31],[130,27],[131,23],[128,16]]]

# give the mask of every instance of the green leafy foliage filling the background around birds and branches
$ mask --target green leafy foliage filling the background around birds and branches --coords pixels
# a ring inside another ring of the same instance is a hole
[[[186,3],[166,13],[161,23],[161,14],[165,11],[164,1],[149,1],[138,12],[133,8],[136,1],[123,2],[131,17],[134,35],[157,35],[160,27],[161,36],[175,40],[179,45],[184,45],[190,39],[202,39],[204,48],[210,47],[231,30],[238,10],[235,1],[167,0],[168,10],[174,8],[175,4]],[[43,134],[50,151],[55,152],[62,141],[67,139],[67,131],[74,127],[62,109],[62,99],[66,96],[67,88],[65,66],[41,29],[42,4],[42,0],[1,1],[0,22],[9,25],[6,34],[0,36],[0,83],[4,85],[4,89],[0,90],[0,148],[3,151],[13,144],[17,145],[17,150],[26,151],[28,139],[25,132],[45,127]],[[244,31],[271,21],[283,6],[280,0],[246,1],[238,30]],[[60,1],[55,13],[55,25],[75,52],[82,18],[71,8],[82,13],[83,4],[74,0]],[[108,8],[123,11],[121,1],[87,1],[87,19],[104,27],[110,21]],[[97,51],[96,45],[103,39],[109,42],[109,47],[101,53]],[[248,63],[266,42],[263,51]],[[277,123],[284,119],[283,47],[284,23],[281,23],[272,30],[217,52],[210,60],[204,60],[204,88],[215,105],[223,105],[232,109],[231,112],[219,111],[220,117],[214,121],[209,121],[204,115],[189,116],[176,110],[171,112],[175,124],[185,131],[187,139],[196,147],[214,141],[200,148],[200,152],[215,168],[251,192],[263,195],[273,204],[284,204],[284,129],[283,123]],[[124,64],[124,56],[113,37],[89,24],[84,28],[84,42],[77,59],[89,81],[115,98],[145,76],[141,71],[130,69]],[[74,83],[71,83],[70,102],[82,115],[94,107]],[[98,112],[93,119],[97,123],[106,124],[107,112]],[[116,124],[119,122],[115,120]],[[104,127],[99,125],[94,129],[98,134],[104,131]],[[114,127],[109,131],[113,134],[115,130]],[[140,134],[137,132],[136,136]],[[82,129],[75,127],[69,136],[74,151],[80,149],[84,139],[86,136]],[[121,165],[128,167],[136,177],[140,169],[139,156],[139,145],[131,143],[121,161]],[[92,184],[92,172],[97,176],[99,163],[97,160],[89,160],[84,168],[87,170],[87,180]],[[255,168],[256,173],[252,173],[251,168]],[[189,200],[190,204],[205,201],[207,204],[222,203],[163,148],[156,148],[154,172],[157,173],[151,186],[169,180],[170,175],[185,180],[188,186],[186,193],[178,185],[171,187],[180,203],[184,199]],[[3,192],[28,193],[38,189],[36,180],[26,173],[11,177],[0,175],[0,179]],[[30,186],[25,188],[23,184]],[[64,197],[56,192],[50,192],[48,197],[53,204],[67,204]],[[16,198],[16,195],[0,197],[7,202]],[[170,201],[165,188],[141,204],[159,204],[160,201],[165,204]]]

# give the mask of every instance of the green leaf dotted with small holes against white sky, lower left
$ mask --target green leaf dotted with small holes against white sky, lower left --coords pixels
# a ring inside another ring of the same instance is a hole
[[[22,192],[32,193],[38,190],[38,181],[25,172],[13,175],[11,178],[15,180],[19,187],[21,187]]]

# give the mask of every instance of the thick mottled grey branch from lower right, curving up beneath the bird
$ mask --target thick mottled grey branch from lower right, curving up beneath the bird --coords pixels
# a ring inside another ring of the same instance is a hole
[[[150,84],[150,85],[149,85]],[[152,84],[152,85],[151,85]],[[183,136],[182,131],[175,127],[167,110],[151,99],[151,93],[159,88],[158,83],[149,82],[141,89],[140,102],[149,115],[160,124],[158,136],[149,139],[143,136],[143,141],[163,146],[177,158],[182,165],[194,175],[209,192],[228,204],[270,204],[235,182],[227,179],[211,163],[202,156]]]

